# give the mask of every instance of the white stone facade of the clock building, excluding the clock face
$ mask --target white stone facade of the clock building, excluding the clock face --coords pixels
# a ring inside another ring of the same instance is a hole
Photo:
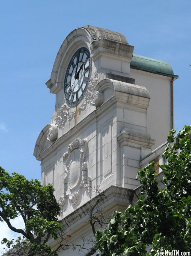
[[[83,100],[71,108],[63,81],[80,47],[90,51],[92,72]],[[141,158],[165,142],[172,126],[173,76],[132,68],[133,49],[120,33],[77,28],[60,47],[46,83],[56,94],[55,111],[39,134],[34,155],[41,161],[42,184],[54,185],[60,220],[75,232],[74,241],[80,231],[91,233],[83,223],[97,196],[93,188],[108,194],[103,204],[108,212],[133,203]],[[163,129],[158,129],[161,122]]]

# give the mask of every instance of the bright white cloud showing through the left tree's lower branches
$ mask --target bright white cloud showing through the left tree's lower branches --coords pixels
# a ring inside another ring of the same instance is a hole
[[[11,220],[11,224],[15,228],[24,228],[24,221],[21,216],[18,216],[18,218]],[[9,229],[6,222],[0,222],[0,242],[3,240],[4,237],[6,237],[8,240],[12,240],[17,238],[18,236],[22,237],[21,234],[15,233],[11,229]],[[0,243],[0,253],[3,253],[4,247],[5,245]]]

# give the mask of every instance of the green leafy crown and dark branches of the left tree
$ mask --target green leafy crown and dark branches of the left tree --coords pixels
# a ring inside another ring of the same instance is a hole
[[[10,175],[0,167],[0,221],[4,220],[12,231],[23,235],[23,239],[2,241],[14,255],[57,255],[47,242],[51,237],[58,238],[59,214],[52,185],[42,186],[37,179],[29,181],[18,173]],[[12,225],[11,220],[18,216],[22,217],[24,228]]]

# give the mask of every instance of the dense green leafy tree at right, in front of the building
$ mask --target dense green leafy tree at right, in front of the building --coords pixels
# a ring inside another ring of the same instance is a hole
[[[140,199],[125,213],[115,212],[108,227],[97,232],[98,255],[159,255],[163,250],[191,250],[190,131],[190,126],[184,126],[176,137],[175,130],[168,134],[163,154],[167,163],[160,166],[163,189],[158,188],[154,162],[138,172]]]

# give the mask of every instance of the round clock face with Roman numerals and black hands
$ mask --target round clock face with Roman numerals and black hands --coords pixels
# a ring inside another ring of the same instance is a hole
[[[64,79],[64,95],[69,106],[77,105],[87,91],[92,62],[87,48],[78,49],[69,62]]]

